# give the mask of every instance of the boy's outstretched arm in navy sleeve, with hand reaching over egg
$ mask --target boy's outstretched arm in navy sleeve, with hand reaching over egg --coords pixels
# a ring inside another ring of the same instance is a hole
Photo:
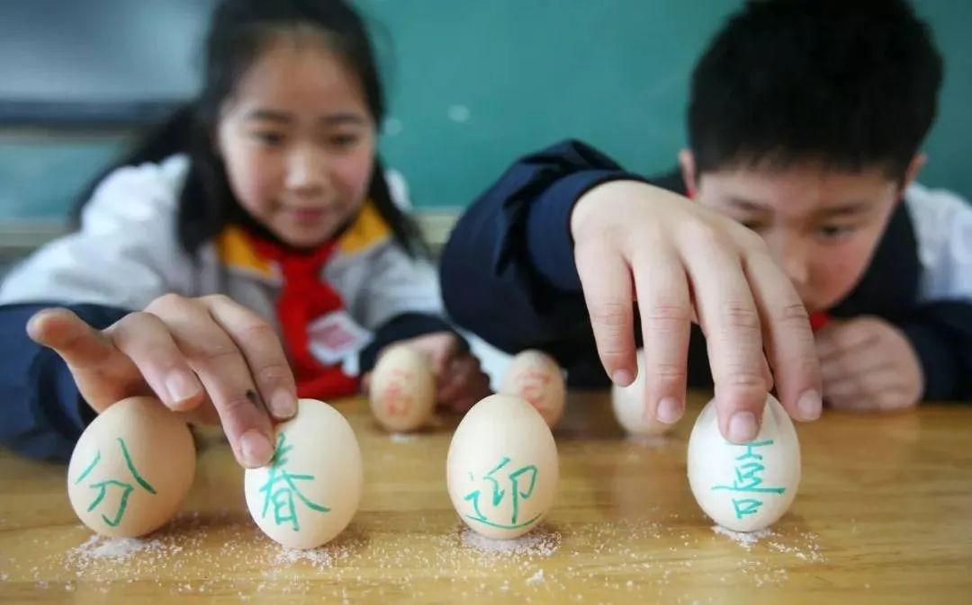
[[[524,158],[475,202],[443,252],[442,289],[455,319],[506,351],[538,347],[571,370],[593,340],[615,384],[646,372],[644,414],[668,422],[684,411],[697,313],[727,439],[758,433],[770,367],[790,415],[819,416],[810,322],[765,242],[579,143]]]

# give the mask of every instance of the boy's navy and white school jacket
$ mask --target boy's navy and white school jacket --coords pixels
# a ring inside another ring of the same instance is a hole
[[[573,387],[607,387],[570,219],[583,193],[615,180],[685,193],[677,173],[646,179],[578,141],[513,164],[475,200],[443,250],[450,317],[503,351],[551,353]],[[872,315],[896,325],[920,358],[925,399],[972,400],[972,206],[947,191],[909,186],[860,282],[827,315]],[[640,345],[637,327],[636,339]],[[691,386],[712,386],[697,327],[688,365]]]

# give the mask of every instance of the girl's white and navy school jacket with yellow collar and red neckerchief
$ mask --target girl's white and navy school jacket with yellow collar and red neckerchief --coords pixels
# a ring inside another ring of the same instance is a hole
[[[52,305],[104,328],[166,293],[226,294],[277,330],[298,395],[319,398],[357,392],[385,345],[450,329],[434,266],[402,250],[369,202],[313,254],[230,224],[192,256],[176,237],[189,169],[180,154],[115,171],[77,232],[35,252],[0,285],[0,443],[63,458],[93,418],[66,365],[26,336],[27,319]],[[406,205],[400,177],[389,183]]]

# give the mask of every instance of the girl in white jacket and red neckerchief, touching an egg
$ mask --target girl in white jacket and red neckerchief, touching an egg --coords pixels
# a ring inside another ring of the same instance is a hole
[[[64,456],[91,410],[154,392],[218,415],[237,460],[260,466],[271,419],[298,396],[357,392],[397,341],[431,357],[440,403],[486,395],[376,155],[384,101],[362,19],[335,0],[225,0],[204,82],[93,188],[80,230],[0,289],[20,303],[0,316],[2,441]]]

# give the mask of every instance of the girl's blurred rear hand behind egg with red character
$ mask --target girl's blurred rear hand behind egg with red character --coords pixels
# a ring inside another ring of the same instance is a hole
[[[463,413],[488,396],[489,376],[479,367],[479,359],[462,347],[452,332],[434,332],[395,343],[424,354],[432,364],[435,401],[453,412]],[[367,389],[370,374],[364,376]]]

